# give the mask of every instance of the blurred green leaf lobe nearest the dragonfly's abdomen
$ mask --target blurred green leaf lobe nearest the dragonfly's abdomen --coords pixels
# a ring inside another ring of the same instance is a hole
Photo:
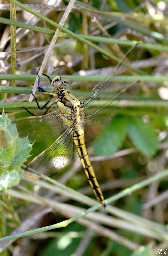
[[[115,116],[104,132],[97,136],[93,142],[95,155],[109,156],[111,153],[115,153],[126,137],[126,129],[127,120],[125,116]]]

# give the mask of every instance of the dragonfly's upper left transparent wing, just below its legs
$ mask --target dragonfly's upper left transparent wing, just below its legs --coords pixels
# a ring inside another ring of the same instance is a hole
[[[60,109],[44,116],[31,116],[15,120],[20,137],[28,136],[31,142],[54,138],[73,124],[72,109]]]

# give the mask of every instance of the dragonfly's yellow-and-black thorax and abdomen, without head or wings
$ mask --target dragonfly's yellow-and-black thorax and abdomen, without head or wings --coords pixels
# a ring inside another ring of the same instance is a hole
[[[53,78],[54,80],[55,78]],[[52,83],[51,83],[52,85]],[[95,172],[93,166],[90,162],[90,158],[87,153],[87,149],[85,147],[85,139],[84,139],[84,130],[83,130],[83,120],[84,120],[84,111],[83,111],[83,103],[81,100],[76,98],[72,93],[68,92],[63,86],[57,88],[54,91],[54,99],[59,109],[63,108],[71,108],[75,113],[75,123],[74,129],[72,133],[72,139],[77,148],[81,163],[83,165],[86,176],[89,180],[90,186],[93,189],[93,192],[97,198],[97,200],[102,204],[105,208],[106,204],[104,201],[104,197],[102,191],[99,187],[97,179],[95,177]],[[73,124],[74,120],[64,120],[66,124]]]

